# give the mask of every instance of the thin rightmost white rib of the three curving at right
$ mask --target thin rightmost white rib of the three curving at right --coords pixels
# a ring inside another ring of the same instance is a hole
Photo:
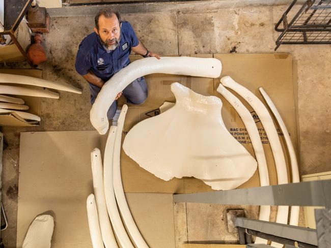
[[[285,143],[289,152],[290,161],[291,161],[291,170],[292,170],[292,182],[299,182],[300,181],[300,175],[299,175],[299,168],[298,163],[295,156],[295,151],[293,148],[293,144],[289,135],[289,132],[287,131],[287,128],[285,126],[284,120],[282,119],[282,116],[278,112],[276,106],[268,96],[268,94],[264,91],[262,87],[259,88],[264,100],[267,102],[271,112],[273,113],[274,117],[276,118],[283,134]],[[299,206],[292,206],[291,207],[291,213],[290,213],[290,225],[297,226],[299,224]]]

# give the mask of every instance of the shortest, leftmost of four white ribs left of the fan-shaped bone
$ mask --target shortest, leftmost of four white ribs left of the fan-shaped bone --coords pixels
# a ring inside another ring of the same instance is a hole
[[[95,203],[93,194],[88,196],[88,199],[86,200],[86,208],[88,211],[88,221],[92,246],[93,248],[104,248],[99,226],[97,204]]]

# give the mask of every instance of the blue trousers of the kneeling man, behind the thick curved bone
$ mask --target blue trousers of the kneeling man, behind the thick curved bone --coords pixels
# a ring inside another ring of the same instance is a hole
[[[91,104],[94,104],[101,88],[90,83]],[[117,92],[119,93],[119,92]],[[126,101],[131,104],[142,104],[147,99],[147,83],[144,77],[137,78],[123,90]],[[117,101],[114,101],[107,112],[108,119],[112,119],[117,109]]]

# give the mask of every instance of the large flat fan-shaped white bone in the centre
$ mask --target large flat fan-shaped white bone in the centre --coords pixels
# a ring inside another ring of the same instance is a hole
[[[214,190],[229,190],[251,178],[257,162],[226,129],[220,99],[179,83],[171,90],[175,106],[137,123],[125,137],[125,153],[166,181],[194,176]]]

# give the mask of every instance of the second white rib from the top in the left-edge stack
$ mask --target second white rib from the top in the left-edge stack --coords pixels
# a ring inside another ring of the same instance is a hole
[[[0,85],[0,94],[19,95],[29,97],[46,97],[59,99],[58,93],[39,88],[26,88],[20,86]]]

